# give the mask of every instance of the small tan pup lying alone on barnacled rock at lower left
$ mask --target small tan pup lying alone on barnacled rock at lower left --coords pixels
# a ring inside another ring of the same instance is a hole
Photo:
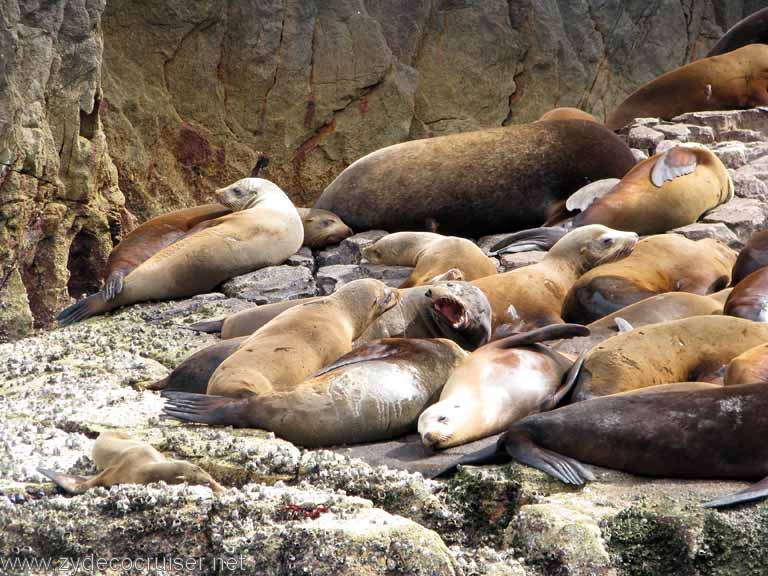
[[[190,462],[169,460],[146,442],[132,440],[124,432],[102,432],[93,445],[91,454],[96,476],[71,476],[47,468],[37,471],[53,480],[70,494],[82,494],[90,488],[109,488],[116,484],[182,484],[207,486],[214,492],[222,490],[221,485],[205,470]]]

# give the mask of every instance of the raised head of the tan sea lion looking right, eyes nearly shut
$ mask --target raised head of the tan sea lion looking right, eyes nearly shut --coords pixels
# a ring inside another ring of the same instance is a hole
[[[549,251],[552,257],[578,259],[582,272],[601,264],[621,260],[634,250],[638,241],[634,232],[613,230],[602,224],[589,224],[571,230]]]

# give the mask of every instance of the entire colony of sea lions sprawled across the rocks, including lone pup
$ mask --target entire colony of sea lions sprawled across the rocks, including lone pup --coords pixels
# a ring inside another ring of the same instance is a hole
[[[768,104],[768,46],[750,43],[764,40],[765,17],[630,94],[605,125],[563,108],[396,144],[346,168],[314,208],[297,209],[259,178],[260,160],[216,191],[218,204],[128,234],[103,289],[59,322],[209,292],[353,229],[399,231],[363,256],[413,266],[400,287],[355,280],[190,326],[227,339],[149,386],[166,398],[164,417],[265,428],[305,447],[418,429],[440,450],[503,432],[444,473],[511,457],[575,485],[594,478],[590,465],[759,480],[768,475],[764,234],[740,255],[666,234],[732,198],[728,171],[691,145],[637,163],[614,131],[638,117]],[[471,240],[499,232],[512,234],[488,252]],[[491,256],[531,249],[549,252],[497,273]],[[44,474],[73,493],[157,479],[220,489],[124,435],[100,438],[94,459],[102,472],[91,479]],[[707,505],[761,498],[764,484]]]

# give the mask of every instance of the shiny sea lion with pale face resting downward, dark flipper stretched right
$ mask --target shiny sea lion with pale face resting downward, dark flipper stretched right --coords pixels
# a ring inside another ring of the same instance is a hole
[[[587,334],[576,324],[546,326],[477,349],[448,378],[440,401],[419,417],[424,446],[450,448],[493,436],[557,406],[578,370],[571,373],[571,359],[539,342]]]

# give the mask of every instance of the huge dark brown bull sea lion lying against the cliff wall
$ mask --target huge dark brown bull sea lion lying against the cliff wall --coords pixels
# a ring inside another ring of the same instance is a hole
[[[436,223],[444,234],[479,237],[540,226],[585,183],[621,178],[634,164],[629,147],[594,122],[511,125],[377,150],[339,174],[315,207],[357,231]]]

